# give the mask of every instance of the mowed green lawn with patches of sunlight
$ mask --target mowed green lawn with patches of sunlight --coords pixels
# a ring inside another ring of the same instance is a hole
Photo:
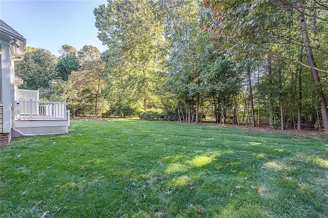
[[[0,148],[18,217],[327,217],[328,140],[177,122],[72,120]]]

